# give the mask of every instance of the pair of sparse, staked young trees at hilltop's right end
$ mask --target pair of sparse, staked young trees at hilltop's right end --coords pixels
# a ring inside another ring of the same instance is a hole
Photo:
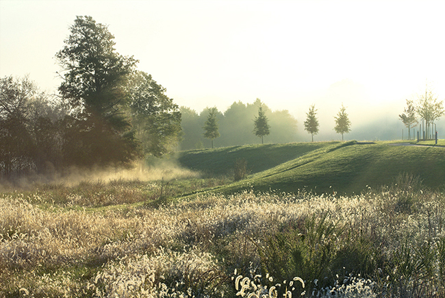
[[[432,139],[435,137],[435,121],[445,114],[444,101],[439,101],[431,89],[425,88],[425,93],[419,95],[416,102],[407,99],[407,105],[403,114],[398,115],[403,125],[408,129],[408,139],[411,140],[411,128],[420,123],[418,132],[421,139]],[[420,122],[418,121],[420,118]],[[412,136],[415,138],[416,136]]]

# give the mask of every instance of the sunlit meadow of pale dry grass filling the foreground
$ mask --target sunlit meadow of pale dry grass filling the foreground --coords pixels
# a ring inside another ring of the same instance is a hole
[[[445,295],[445,195],[413,177],[353,197],[246,191],[153,206],[160,187],[1,194],[0,297]]]

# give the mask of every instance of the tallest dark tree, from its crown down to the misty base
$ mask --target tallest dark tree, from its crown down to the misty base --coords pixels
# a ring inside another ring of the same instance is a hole
[[[91,16],[77,16],[70,30],[56,54],[63,71],[60,95],[73,116],[66,156],[83,166],[128,165],[140,157],[125,114],[127,82],[137,61],[118,54],[107,26]]]

